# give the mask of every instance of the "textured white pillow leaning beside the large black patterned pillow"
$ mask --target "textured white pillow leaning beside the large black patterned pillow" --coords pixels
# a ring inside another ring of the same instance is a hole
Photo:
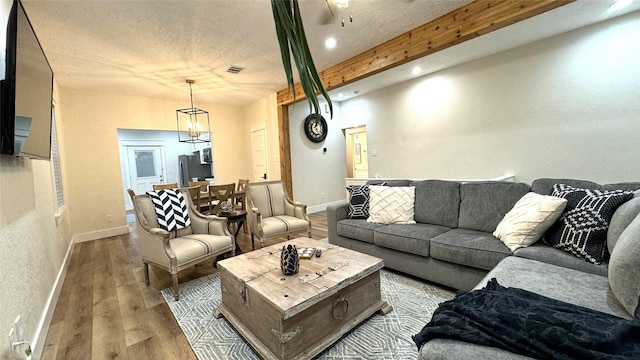
[[[565,206],[567,199],[527,193],[500,221],[493,236],[511,251],[532,245],[560,218]]]

